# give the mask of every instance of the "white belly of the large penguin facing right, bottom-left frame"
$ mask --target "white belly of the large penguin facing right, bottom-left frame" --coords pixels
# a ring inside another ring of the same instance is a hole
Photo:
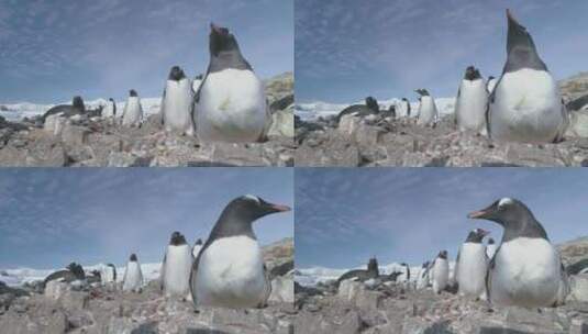
[[[251,237],[217,240],[200,255],[196,277],[199,304],[255,308],[265,302],[267,285],[262,250]]]

